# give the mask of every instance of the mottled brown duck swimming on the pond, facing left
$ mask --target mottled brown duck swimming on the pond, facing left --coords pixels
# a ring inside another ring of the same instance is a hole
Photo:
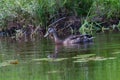
[[[65,38],[65,39],[60,39],[58,37],[57,31],[55,28],[50,27],[48,28],[46,34],[44,35],[44,37],[47,37],[48,35],[53,35],[54,38],[54,42],[55,44],[64,44],[64,45],[68,45],[68,44],[80,44],[80,43],[89,43],[93,41],[93,38],[91,35],[70,35],[69,37]]]

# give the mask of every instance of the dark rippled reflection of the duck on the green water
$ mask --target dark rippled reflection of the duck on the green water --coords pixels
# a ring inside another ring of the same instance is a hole
[[[79,54],[89,54],[93,43],[55,45],[53,53],[49,53],[48,58],[73,57]]]

